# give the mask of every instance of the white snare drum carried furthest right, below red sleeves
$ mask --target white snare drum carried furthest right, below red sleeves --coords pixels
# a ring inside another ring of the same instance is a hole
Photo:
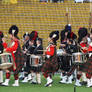
[[[72,62],[73,63],[85,63],[85,55],[81,52],[73,53]]]

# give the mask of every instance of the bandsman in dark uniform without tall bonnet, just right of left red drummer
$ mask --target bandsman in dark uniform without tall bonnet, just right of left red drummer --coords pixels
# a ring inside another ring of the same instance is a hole
[[[24,71],[23,71],[23,74],[24,74],[24,79],[22,80],[23,83],[26,83],[28,82],[28,80],[31,80],[31,76],[30,76],[30,66],[29,66],[29,55],[27,55],[28,53],[28,50],[29,50],[29,33],[26,32],[24,35],[23,35],[23,38],[24,38],[24,45],[22,46],[22,49],[23,49],[23,53],[27,56],[27,59],[26,59],[26,62],[24,64]]]

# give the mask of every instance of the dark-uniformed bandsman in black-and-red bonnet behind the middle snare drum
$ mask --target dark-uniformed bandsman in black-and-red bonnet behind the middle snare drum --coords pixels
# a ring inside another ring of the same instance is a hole
[[[29,41],[28,41],[28,47],[25,50],[25,54],[33,54],[35,46],[36,46],[36,39],[38,37],[38,33],[36,31],[32,31],[29,34]],[[27,67],[25,67],[25,71],[28,71],[29,74],[26,74],[23,83],[26,83],[28,81],[31,81],[33,79],[33,73],[31,73],[31,66],[30,66],[30,55],[27,55],[27,61],[26,61]]]

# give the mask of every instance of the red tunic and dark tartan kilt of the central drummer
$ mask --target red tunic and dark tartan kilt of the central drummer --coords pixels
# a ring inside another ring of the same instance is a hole
[[[56,46],[51,43],[46,48],[46,60],[42,67],[42,72],[45,74],[54,73],[58,70],[58,61],[57,61],[57,55],[56,55]]]

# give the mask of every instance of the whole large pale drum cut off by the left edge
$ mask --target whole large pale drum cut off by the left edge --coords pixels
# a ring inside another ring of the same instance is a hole
[[[10,68],[13,63],[13,59],[10,53],[0,54],[0,69]]]

